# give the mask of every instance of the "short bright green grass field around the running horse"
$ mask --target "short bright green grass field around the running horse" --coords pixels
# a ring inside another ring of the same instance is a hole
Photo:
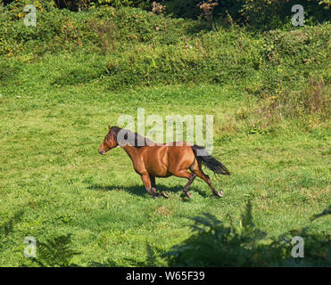
[[[229,214],[236,221],[250,199],[254,223],[277,237],[327,208],[327,125],[282,120],[268,127],[266,121],[259,131],[254,117],[259,102],[236,85],[154,86],[125,94],[107,91],[102,80],[52,87],[48,78],[57,71],[51,63],[28,65],[16,74],[17,85],[6,85],[1,93],[0,215],[5,221],[23,211],[4,237],[1,265],[27,263],[26,236],[43,241],[71,233],[80,252],[73,262],[79,265],[108,258],[116,265],[140,265],[147,258],[146,242],[160,252],[169,250],[190,236],[188,217],[204,212],[220,219]],[[212,198],[208,185],[196,179],[194,198],[183,200],[186,181],[170,177],[157,179],[170,199],[154,200],[124,151],[98,154],[107,124],[115,125],[121,114],[136,118],[137,107],[144,107],[146,116],[164,118],[214,115],[213,155],[232,173],[211,175],[224,198]],[[327,218],[314,227],[330,233]]]

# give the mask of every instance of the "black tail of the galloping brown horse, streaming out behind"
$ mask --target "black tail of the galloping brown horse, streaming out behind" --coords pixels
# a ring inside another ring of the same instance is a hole
[[[219,175],[230,175],[228,168],[219,160],[214,159],[202,146],[194,144],[192,150],[198,162],[203,163],[204,166],[210,168],[214,173]]]

